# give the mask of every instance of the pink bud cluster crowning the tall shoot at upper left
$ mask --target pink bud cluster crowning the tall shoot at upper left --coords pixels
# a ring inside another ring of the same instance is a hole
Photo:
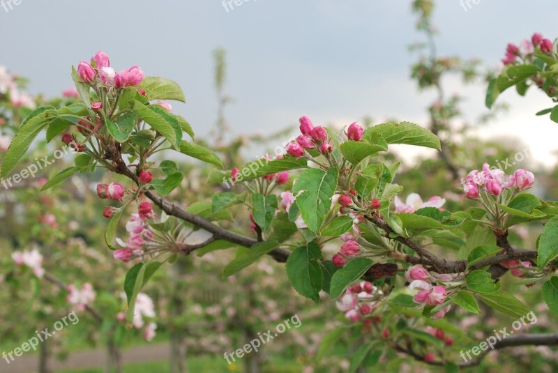
[[[116,88],[138,86],[145,77],[142,69],[137,66],[116,73],[114,68],[110,67],[109,56],[103,51],[99,51],[91,57],[90,63],[81,61],[77,66],[77,74],[80,75],[82,82],[96,84],[98,78],[100,84],[116,86]]]

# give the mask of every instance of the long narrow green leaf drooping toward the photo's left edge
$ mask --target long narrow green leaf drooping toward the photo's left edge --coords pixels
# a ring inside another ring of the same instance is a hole
[[[54,119],[54,107],[40,107],[27,116],[3,156],[1,177],[6,177],[12,172],[35,137]]]

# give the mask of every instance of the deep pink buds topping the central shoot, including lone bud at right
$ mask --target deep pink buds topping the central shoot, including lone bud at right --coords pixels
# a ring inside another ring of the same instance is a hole
[[[317,149],[322,154],[329,154],[333,151],[328,141],[328,134],[321,125],[314,125],[308,116],[299,119],[301,135],[296,137],[296,142],[289,142],[285,149],[287,153],[296,158],[301,158],[308,149]],[[347,138],[352,141],[361,141],[363,128],[356,122],[347,128]]]

